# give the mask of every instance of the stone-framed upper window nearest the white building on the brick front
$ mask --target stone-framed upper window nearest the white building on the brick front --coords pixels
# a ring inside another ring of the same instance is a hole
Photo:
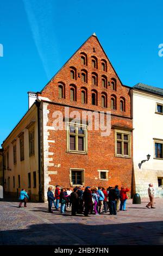
[[[131,156],[131,132],[115,130],[115,156]]]

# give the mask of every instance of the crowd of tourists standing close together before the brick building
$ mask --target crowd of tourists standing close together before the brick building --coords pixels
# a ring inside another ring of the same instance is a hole
[[[95,187],[91,188],[87,186],[85,189],[83,186],[74,187],[73,191],[70,188],[61,188],[57,185],[55,186],[55,191],[53,187],[48,188],[47,198],[48,198],[48,211],[53,212],[52,205],[56,210],[59,209],[60,212],[64,214],[66,211],[66,206],[71,207],[71,215],[84,214],[84,216],[89,216],[89,214],[102,214],[108,212],[110,215],[116,215],[118,211],[126,211],[126,200],[127,192],[129,189],[127,187],[121,187],[119,190],[118,185],[115,187]]]

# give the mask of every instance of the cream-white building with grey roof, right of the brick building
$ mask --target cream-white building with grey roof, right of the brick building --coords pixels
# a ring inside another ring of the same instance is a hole
[[[155,196],[163,197],[163,89],[136,84],[133,100],[133,191],[148,197],[152,183]],[[147,155],[150,158],[147,160]]]

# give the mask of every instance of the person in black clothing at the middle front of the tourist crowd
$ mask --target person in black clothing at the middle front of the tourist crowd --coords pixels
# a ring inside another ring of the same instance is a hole
[[[89,211],[92,209],[92,193],[91,187],[86,187],[83,192],[83,200],[84,200],[84,216],[89,217]]]

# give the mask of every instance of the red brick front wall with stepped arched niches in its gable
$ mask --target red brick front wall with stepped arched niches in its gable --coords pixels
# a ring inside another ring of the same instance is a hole
[[[82,54],[81,54],[82,53]],[[85,56],[85,65],[81,62],[81,56]],[[97,60],[97,68],[92,67],[92,59]],[[102,69],[102,63],[105,63],[105,71]],[[87,64],[87,65],[86,65]],[[75,71],[75,79],[71,78],[71,70]],[[84,71],[83,71],[84,70]],[[86,74],[86,82],[82,81],[82,72]],[[97,75],[97,85],[92,85],[92,73]],[[80,77],[78,77],[80,76]],[[103,77],[102,77],[103,76]],[[107,88],[102,85],[102,78],[106,78]],[[114,78],[114,79],[112,79]],[[116,90],[112,89],[111,81],[116,81]],[[108,84],[108,82],[110,82]],[[59,84],[64,86],[64,99],[59,97]],[[70,85],[76,88],[76,101],[71,101]],[[85,88],[87,94],[87,103],[82,103],[81,91]],[[92,105],[92,90],[97,92],[97,106]],[[105,95],[107,107],[102,107],[102,95]],[[111,110],[111,95],[116,96],[116,109]],[[48,140],[55,141],[49,143],[49,151],[54,153],[53,162],[59,163],[58,167],[48,167],[48,171],[57,171],[57,174],[50,174],[51,184],[69,187],[70,168],[84,169],[84,185],[95,187],[98,185],[126,185],[131,188],[132,174],[132,146],[130,157],[115,156],[115,130],[132,130],[132,119],[130,113],[130,95],[129,88],[122,85],[115,70],[109,62],[108,57],[103,51],[102,46],[96,36],[92,35],[79,48],[70,60],[61,68],[53,79],[42,90],[40,96],[48,97],[52,102],[48,104],[48,126],[53,125],[53,112],[61,111],[64,115],[65,105],[70,106],[70,111],[90,109],[92,111],[111,111],[111,134],[108,137],[102,137],[100,131],[88,131],[88,152],[87,154],[67,153],[66,131],[49,131]],[[120,109],[120,100],[123,98],[124,110]],[[132,136],[131,136],[132,142]],[[132,143],[131,143],[132,145]],[[51,156],[52,157],[52,156]],[[99,179],[98,170],[109,170],[108,180]]]

